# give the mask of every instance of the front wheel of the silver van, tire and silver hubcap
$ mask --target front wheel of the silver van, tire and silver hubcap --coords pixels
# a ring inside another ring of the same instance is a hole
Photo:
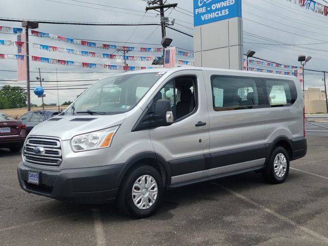
[[[151,189],[148,189],[147,185]],[[163,193],[163,182],[159,172],[151,166],[142,165],[126,174],[121,182],[116,204],[118,209],[128,216],[146,218],[155,212]]]

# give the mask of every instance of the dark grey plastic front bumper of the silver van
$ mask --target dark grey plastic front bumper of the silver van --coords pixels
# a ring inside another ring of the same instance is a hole
[[[115,183],[124,164],[103,167],[45,171],[26,167],[20,162],[17,169],[19,185],[23,190],[57,200],[76,203],[104,203],[115,199]],[[40,172],[39,185],[27,182],[28,171]]]

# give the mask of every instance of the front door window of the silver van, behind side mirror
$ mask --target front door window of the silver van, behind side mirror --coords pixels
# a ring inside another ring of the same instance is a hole
[[[174,120],[178,120],[196,111],[197,106],[197,85],[196,77],[183,76],[172,79],[154,97],[153,109],[159,99],[168,99],[171,102],[171,109]]]

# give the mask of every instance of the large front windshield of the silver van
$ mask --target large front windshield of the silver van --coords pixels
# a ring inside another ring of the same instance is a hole
[[[100,79],[81,94],[66,114],[112,115],[133,109],[163,73],[132,73]]]

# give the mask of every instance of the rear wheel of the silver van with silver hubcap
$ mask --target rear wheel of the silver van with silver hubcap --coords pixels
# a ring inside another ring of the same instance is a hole
[[[272,151],[267,166],[262,171],[262,177],[269,183],[282,183],[286,180],[288,173],[289,155],[283,147],[277,147]]]

